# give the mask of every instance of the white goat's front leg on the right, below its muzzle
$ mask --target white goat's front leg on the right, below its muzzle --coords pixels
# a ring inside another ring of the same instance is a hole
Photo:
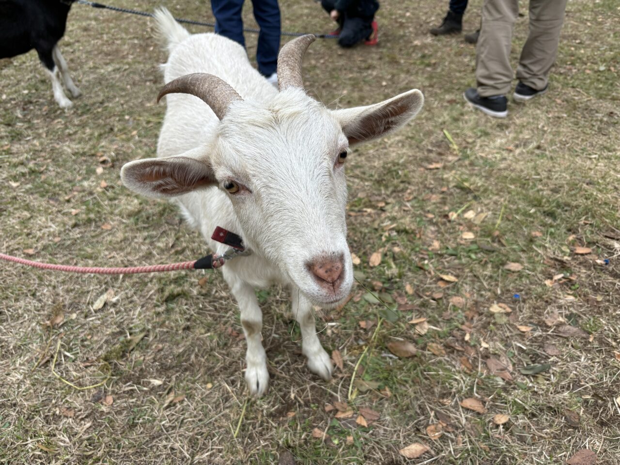
[[[312,304],[295,286],[291,288],[291,294],[293,294],[293,314],[301,329],[301,352],[308,358],[308,368],[325,381],[332,379],[334,368],[316,334]]]

